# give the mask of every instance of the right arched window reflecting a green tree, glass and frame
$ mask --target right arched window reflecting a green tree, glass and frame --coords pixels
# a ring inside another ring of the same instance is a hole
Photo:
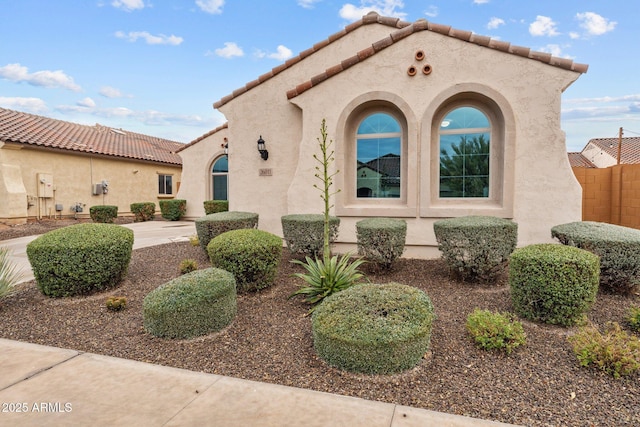
[[[491,197],[491,123],[477,108],[460,107],[440,123],[440,197]]]

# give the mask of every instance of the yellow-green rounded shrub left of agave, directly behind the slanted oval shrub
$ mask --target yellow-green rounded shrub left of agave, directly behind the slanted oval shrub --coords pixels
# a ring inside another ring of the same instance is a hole
[[[282,256],[282,239],[257,229],[232,230],[209,242],[207,253],[213,267],[231,272],[238,292],[271,286]]]

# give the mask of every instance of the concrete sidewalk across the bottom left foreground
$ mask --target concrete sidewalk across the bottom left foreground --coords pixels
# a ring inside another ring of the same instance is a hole
[[[0,402],[2,426],[507,425],[4,339]]]

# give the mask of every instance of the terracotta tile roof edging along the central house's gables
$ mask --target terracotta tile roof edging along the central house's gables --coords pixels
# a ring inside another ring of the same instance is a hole
[[[401,21],[398,18],[381,16],[381,15],[378,15],[376,12],[369,12],[367,15],[363,16],[361,20],[355,21],[347,25],[341,31],[329,36],[329,38],[327,38],[326,40],[316,43],[315,45],[313,45],[313,47],[301,52],[298,56],[290,58],[289,60],[279,65],[278,67],[273,68],[268,73],[261,75],[256,80],[253,80],[247,83],[244,87],[236,89],[231,94],[215,102],[213,104],[213,107],[216,109],[222,107],[232,99],[253,89],[254,87],[260,85],[264,81],[281,73],[282,71],[293,66],[297,62],[300,62],[307,56],[317,52],[318,50],[329,45],[335,40],[338,40],[344,37],[350,32],[361,27],[362,25],[375,24],[375,23],[387,25],[389,27],[396,28],[397,30],[392,32],[388,37],[373,43],[370,47],[364,50],[361,50],[351,58],[347,58],[344,61],[342,61],[340,64],[337,64],[331,68],[328,68],[325,72],[312,77],[311,80],[297,85],[294,89],[287,92],[287,99],[291,99],[300,95],[302,92],[309,90],[313,86],[317,86],[318,84],[334,76],[335,74],[338,74],[341,71],[344,71],[345,69],[359,62],[364,61],[365,59],[367,59],[372,55],[375,55],[382,49],[385,49],[391,46],[393,43],[396,43],[397,41],[418,31],[433,31],[433,32],[443,34],[449,37],[457,38],[459,40],[463,40],[469,43],[475,43],[477,45],[484,46],[490,49],[499,50],[501,52],[534,59],[549,65],[564,68],[566,70],[576,71],[578,73],[586,73],[587,69],[589,68],[589,66],[586,64],[575,63],[570,59],[558,58],[558,57],[552,56],[549,53],[533,51],[527,47],[511,45],[508,42],[491,39],[490,37],[487,37],[487,36],[474,34],[471,31],[458,30],[447,25],[431,23],[424,19],[419,19],[414,23],[410,23],[406,21]]]

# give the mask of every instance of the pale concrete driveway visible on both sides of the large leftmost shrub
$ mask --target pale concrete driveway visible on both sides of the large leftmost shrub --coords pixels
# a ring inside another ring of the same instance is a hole
[[[189,240],[189,236],[196,234],[196,226],[193,221],[145,221],[124,224],[123,227],[133,230],[133,249],[185,241]],[[9,248],[11,260],[23,272],[20,283],[33,280],[33,271],[27,258],[27,244],[36,237],[38,236],[0,241],[0,247]]]

